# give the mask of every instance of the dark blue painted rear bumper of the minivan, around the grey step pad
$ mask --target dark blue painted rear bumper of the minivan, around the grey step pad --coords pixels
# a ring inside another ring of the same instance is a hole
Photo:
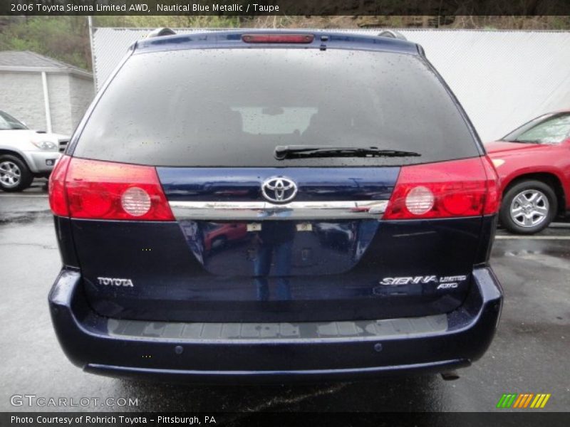
[[[61,271],[48,299],[63,351],[86,371],[204,382],[328,381],[447,371],[482,357],[497,327],[502,290],[488,267],[476,268],[472,277],[469,295],[447,314],[444,330],[330,339],[153,336],[148,332],[153,328],[175,330],[182,325],[155,322],[135,322],[129,334],[116,334],[117,320],[101,317],[88,306],[76,270]]]

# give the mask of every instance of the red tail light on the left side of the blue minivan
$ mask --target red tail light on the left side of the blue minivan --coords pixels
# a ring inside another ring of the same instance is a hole
[[[154,167],[63,157],[50,178],[53,214],[174,221]]]

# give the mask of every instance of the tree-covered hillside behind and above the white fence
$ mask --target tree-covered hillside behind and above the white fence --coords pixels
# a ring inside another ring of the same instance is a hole
[[[570,16],[95,16],[94,26],[570,30]],[[0,16],[0,51],[33,51],[90,70],[86,16]]]

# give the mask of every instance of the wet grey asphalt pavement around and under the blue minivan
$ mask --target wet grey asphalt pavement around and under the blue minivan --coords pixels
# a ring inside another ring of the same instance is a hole
[[[494,411],[503,393],[549,393],[544,411],[569,411],[570,224],[531,238],[499,231],[492,266],[505,294],[499,330],[456,381],[182,386],[110,379],[74,367],[53,333],[46,299],[60,258],[45,191],[0,192],[0,411],[56,410],[11,405],[21,394],[138,399],[138,406],[81,408],[93,411]]]

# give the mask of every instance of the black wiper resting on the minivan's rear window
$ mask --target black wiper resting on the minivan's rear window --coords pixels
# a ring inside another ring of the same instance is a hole
[[[323,145],[278,145],[275,158],[300,159],[303,157],[418,157],[417,152],[378,147],[327,147]]]

